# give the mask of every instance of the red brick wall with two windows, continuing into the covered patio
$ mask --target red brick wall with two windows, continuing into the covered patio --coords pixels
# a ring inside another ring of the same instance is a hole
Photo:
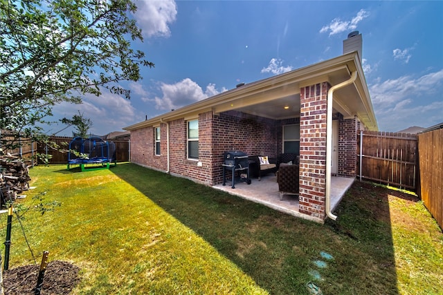
[[[199,160],[188,160],[187,122],[170,122],[170,173],[205,184],[222,182],[223,153],[243,151],[248,155],[281,153],[281,126],[275,120],[229,111],[199,115]],[[161,124],[161,156],[155,156],[154,128],[131,131],[132,162],[166,171],[166,124]],[[197,163],[200,162],[201,166]]]

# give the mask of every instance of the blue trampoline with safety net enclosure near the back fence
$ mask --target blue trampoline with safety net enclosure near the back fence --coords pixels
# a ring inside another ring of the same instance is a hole
[[[109,165],[117,164],[116,144],[107,142],[100,137],[75,137],[69,143],[68,170],[73,165],[80,165],[82,171],[109,169]]]

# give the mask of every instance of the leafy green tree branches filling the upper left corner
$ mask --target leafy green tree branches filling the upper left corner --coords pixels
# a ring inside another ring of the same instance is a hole
[[[0,0],[0,132],[39,140],[55,104],[104,88],[129,99],[118,82],[154,66],[131,47],[143,41],[135,11],[130,0]]]

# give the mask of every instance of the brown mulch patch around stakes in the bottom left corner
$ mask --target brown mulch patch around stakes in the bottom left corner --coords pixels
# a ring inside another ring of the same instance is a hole
[[[79,271],[80,267],[66,261],[51,261],[46,267],[40,294],[70,294],[80,281]],[[8,269],[3,273],[5,294],[35,294],[38,273],[38,265],[25,265],[15,269]]]

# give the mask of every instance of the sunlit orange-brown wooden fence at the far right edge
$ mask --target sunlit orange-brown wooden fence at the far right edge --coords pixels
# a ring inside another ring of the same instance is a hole
[[[418,135],[420,197],[443,229],[443,129]]]

